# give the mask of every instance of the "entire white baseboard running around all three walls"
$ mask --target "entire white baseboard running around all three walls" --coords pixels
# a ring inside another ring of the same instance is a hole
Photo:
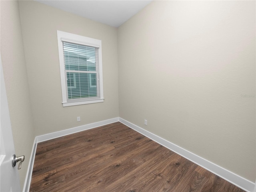
[[[197,156],[196,154],[193,154],[193,153],[191,153],[191,152],[189,152],[189,151],[187,151],[187,150],[185,150],[185,149],[183,149],[183,148],[181,148],[181,147],[179,147],[179,146],[177,146],[177,145],[175,145],[175,144],[173,144],[155,134],[152,134],[151,132],[148,132],[147,130],[144,130],[144,129],[142,129],[142,128],[140,128],[122,118],[118,118],[118,117],[109,119],[109,120],[92,123],[92,124],[87,124],[84,126],[70,128],[67,130],[62,130],[62,131],[58,131],[58,132],[54,132],[54,133],[50,133],[50,134],[37,136],[35,138],[34,146],[33,146],[32,152],[31,152],[30,162],[28,165],[28,171],[27,171],[26,180],[24,183],[23,192],[28,192],[29,188],[30,188],[30,182],[31,182],[32,171],[33,171],[33,166],[34,166],[34,158],[36,155],[36,146],[37,146],[38,142],[43,142],[46,140],[50,140],[50,139],[58,138],[58,137],[65,136],[68,134],[73,134],[76,132],[96,128],[99,126],[103,126],[103,125],[118,122],[118,121],[125,124],[126,126],[132,128],[133,130],[136,130],[140,134],[154,140],[155,142],[159,143],[160,145],[172,150],[173,152],[176,152],[180,156],[183,156],[184,158],[194,162],[195,164],[198,164],[199,166],[205,168],[206,170],[218,175],[219,177],[223,178],[224,180],[227,180],[228,182],[238,186],[242,190],[245,190],[246,192],[255,192],[254,188],[255,188],[256,184],[254,184],[253,182],[246,180],[245,178],[242,178],[242,177],[238,176],[237,174],[230,172],[229,170],[226,170],[226,169],[224,169],[224,168],[222,168],[204,158],[201,158],[200,156]]]

